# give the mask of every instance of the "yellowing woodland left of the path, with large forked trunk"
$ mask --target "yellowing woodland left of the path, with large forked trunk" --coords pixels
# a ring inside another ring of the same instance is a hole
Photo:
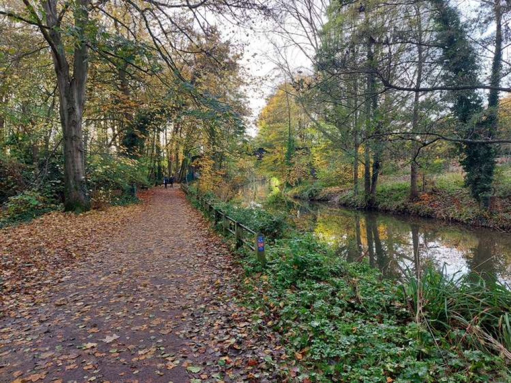
[[[234,26],[249,8],[264,11],[3,2],[0,200],[9,213],[129,199],[134,183],[184,179],[197,155],[205,173],[225,169],[245,132],[241,46],[202,12]]]

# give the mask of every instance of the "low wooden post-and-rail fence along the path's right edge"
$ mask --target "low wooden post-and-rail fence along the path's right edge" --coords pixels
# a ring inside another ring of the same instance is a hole
[[[190,195],[190,189],[188,185],[181,184],[181,189],[186,195]],[[235,248],[236,250],[240,249],[243,245],[246,245],[255,252],[257,260],[261,263],[261,265],[266,264],[266,255],[265,255],[265,244],[264,244],[264,236],[261,233],[257,233],[251,228],[243,225],[241,222],[236,221],[235,219],[229,217],[224,211],[217,209],[207,201],[204,197],[199,196],[198,194],[194,196],[195,199],[203,209],[208,213],[208,216],[213,218],[213,221],[221,224],[222,232],[224,235],[227,232],[234,235],[235,238]],[[248,233],[249,237],[253,239],[249,241],[243,233]]]

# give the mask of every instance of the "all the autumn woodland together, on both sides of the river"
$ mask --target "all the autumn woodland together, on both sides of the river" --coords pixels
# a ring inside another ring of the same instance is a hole
[[[11,215],[129,200],[133,184],[199,168],[205,188],[239,183],[254,166],[290,186],[351,183],[353,201],[375,206],[382,175],[406,174],[413,201],[455,159],[475,201],[508,197],[496,166],[509,155],[506,2],[82,3],[2,5]],[[268,56],[280,80],[255,139],[254,79],[219,22],[278,37]]]

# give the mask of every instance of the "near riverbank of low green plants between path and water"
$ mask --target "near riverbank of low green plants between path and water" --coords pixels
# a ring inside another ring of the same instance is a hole
[[[191,188],[192,201],[195,193]],[[403,283],[382,279],[367,262],[348,262],[317,236],[284,226],[279,214],[218,202],[211,193],[204,198],[266,235],[265,267],[253,251],[238,252],[245,270],[239,299],[258,313],[261,328],[286,340],[285,354],[296,364],[293,379],[511,379],[511,344],[505,344],[511,297],[500,284],[430,269],[419,281],[413,273]],[[233,241],[220,222],[212,224]]]

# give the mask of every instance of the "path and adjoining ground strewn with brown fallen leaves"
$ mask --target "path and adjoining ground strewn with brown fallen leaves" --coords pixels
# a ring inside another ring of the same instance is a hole
[[[236,303],[241,271],[201,214],[177,188],[143,201],[0,231],[0,381],[281,379],[278,336]]]

